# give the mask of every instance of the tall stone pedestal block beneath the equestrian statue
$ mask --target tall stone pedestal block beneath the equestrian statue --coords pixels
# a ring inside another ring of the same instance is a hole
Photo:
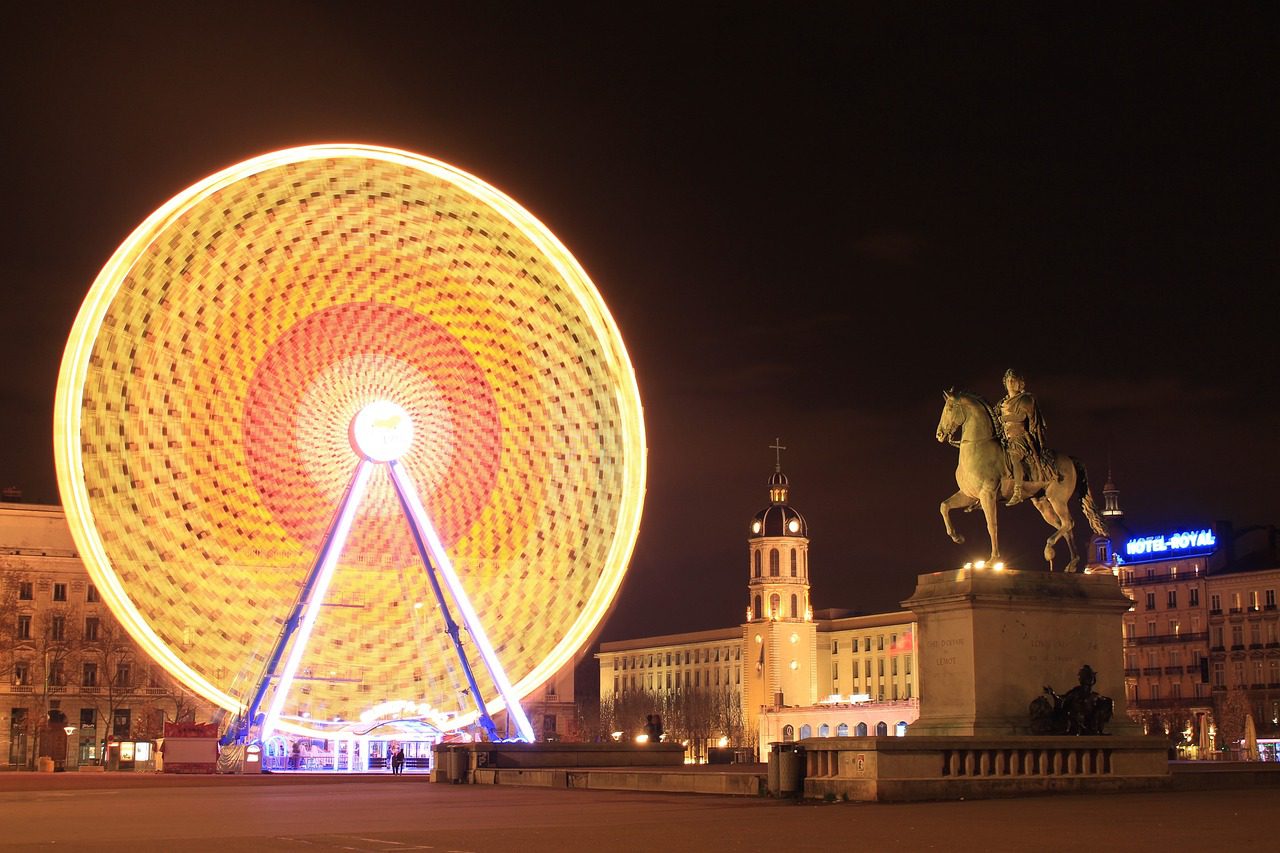
[[[1135,735],[1124,692],[1121,617],[1133,602],[1111,575],[957,569],[920,575],[902,602],[916,617],[920,719],[908,736],[1030,734],[1044,685],[1115,701],[1107,734]]]

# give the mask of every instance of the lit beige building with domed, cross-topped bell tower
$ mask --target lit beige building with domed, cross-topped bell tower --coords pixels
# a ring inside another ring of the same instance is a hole
[[[879,722],[884,715],[868,711],[868,703],[897,703],[888,715],[893,717],[887,724],[895,729],[891,734],[899,722],[915,720],[919,688],[911,613],[814,611],[809,525],[791,506],[790,488],[778,466],[768,482],[769,503],[749,524],[746,621],[736,628],[603,643],[596,654],[602,708],[627,695],[649,695],[654,707],[663,702],[678,707],[681,697],[717,694],[736,706],[726,719],[739,725],[723,724],[710,733],[712,740],[737,734],[742,743],[735,745],[759,743],[762,749],[799,736],[806,725],[800,717],[813,713],[829,721],[810,727],[818,731],[826,725],[831,734],[854,730],[867,720]]]

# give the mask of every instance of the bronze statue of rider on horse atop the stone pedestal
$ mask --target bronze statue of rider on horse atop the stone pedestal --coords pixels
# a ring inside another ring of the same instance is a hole
[[[965,391],[943,391],[946,401],[938,419],[937,439],[960,448],[956,466],[956,485],[960,491],[942,502],[942,521],[952,542],[964,537],[951,526],[951,510],[965,512],[982,507],[987,516],[991,537],[991,560],[1000,560],[1000,535],[996,520],[996,502],[1007,498],[1005,506],[1015,506],[1025,500],[1039,511],[1053,534],[1044,542],[1044,560],[1053,570],[1053,546],[1066,539],[1071,553],[1066,571],[1080,570],[1080,551],[1076,548],[1071,512],[1068,502],[1080,500],[1080,510],[1089,526],[1098,535],[1107,535],[1106,525],[1098,515],[1089,492],[1084,465],[1071,457],[1044,447],[1044,419],[1027,391],[1027,380],[1016,370],[1005,371],[1006,396],[998,409],[978,394]],[[955,438],[960,430],[959,441]]]

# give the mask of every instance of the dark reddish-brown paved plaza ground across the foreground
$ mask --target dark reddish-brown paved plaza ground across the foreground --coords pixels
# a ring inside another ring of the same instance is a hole
[[[1262,849],[1280,789],[794,803],[431,784],[422,776],[0,775],[0,849]]]

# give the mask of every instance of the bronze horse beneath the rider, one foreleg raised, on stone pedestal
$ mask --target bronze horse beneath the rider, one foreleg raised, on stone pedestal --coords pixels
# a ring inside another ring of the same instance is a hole
[[[1000,560],[996,502],[1011,494],[1012,480],[1009,475],[1007,455],[996,434],[991,406],[978,394],[965,391],[945,391],[942,397],[946,403],[938,419],[937,438],[940,442],[950,441],[960,448],[960,464],[956,466],[956,485],[960,491],[942,502],[942,521],[952,542],[964,542],[964,537],[951,526],[951,510],[963,508],[968,512],[982,506],[982,512],[987,516],[987,533],[991,537],[991,560]],[[957,429],[959,442],[952,439]],[[1075,547],[1075,524],[1071,521],[1068,501],[1079,494],[1080,510],[1093,532],[1105,537],[1107,529],[1093,503],[1084,465],[1065,455],[1055,455],[1052,464],[1056,479],[1037,480],[1033,473],[1033,479],[1024,483],[1023,488],[1044,521],[1053,528],[1053,534],[1044,542],[1044,560],[1048,561],[1050,570],[1053,569],[1053,546],[1060,539],[1066,539],[1071,552],[1066,571],[1079,571],[1080,552]]]

